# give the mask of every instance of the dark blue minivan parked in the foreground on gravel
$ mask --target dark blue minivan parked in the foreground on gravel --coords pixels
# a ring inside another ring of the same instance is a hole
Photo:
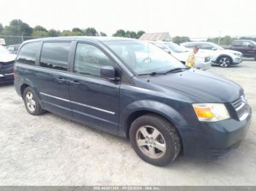
[[[252,109],[235,82],[189,69],[148,42],[57,37],[24,42],[15,89],[30,114],[45,111],[127,137],[153,165],[238,147]]]

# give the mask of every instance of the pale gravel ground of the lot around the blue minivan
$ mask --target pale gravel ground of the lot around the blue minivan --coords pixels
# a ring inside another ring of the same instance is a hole
[[[208,71],[238,82],[256,109],[256,62]],[[256,185],[256,117],[241,146],[219,160],[179,156],[149,165],[129,141],[55,114],[26,112],[13,85],[0,85],[1,185]]]

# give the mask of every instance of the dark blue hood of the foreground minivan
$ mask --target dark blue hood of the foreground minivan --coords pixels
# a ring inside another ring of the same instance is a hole
[[[151,77],[150,82],[192,95],[199,102],[230,103],[243,93],[235,82],[197,69]]]

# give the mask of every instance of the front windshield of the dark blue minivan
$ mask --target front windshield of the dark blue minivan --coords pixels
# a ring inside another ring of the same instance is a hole
[[[176,58],[150,42],[124,40],[107,41],[105,44],[138,75],[186,68]]]

